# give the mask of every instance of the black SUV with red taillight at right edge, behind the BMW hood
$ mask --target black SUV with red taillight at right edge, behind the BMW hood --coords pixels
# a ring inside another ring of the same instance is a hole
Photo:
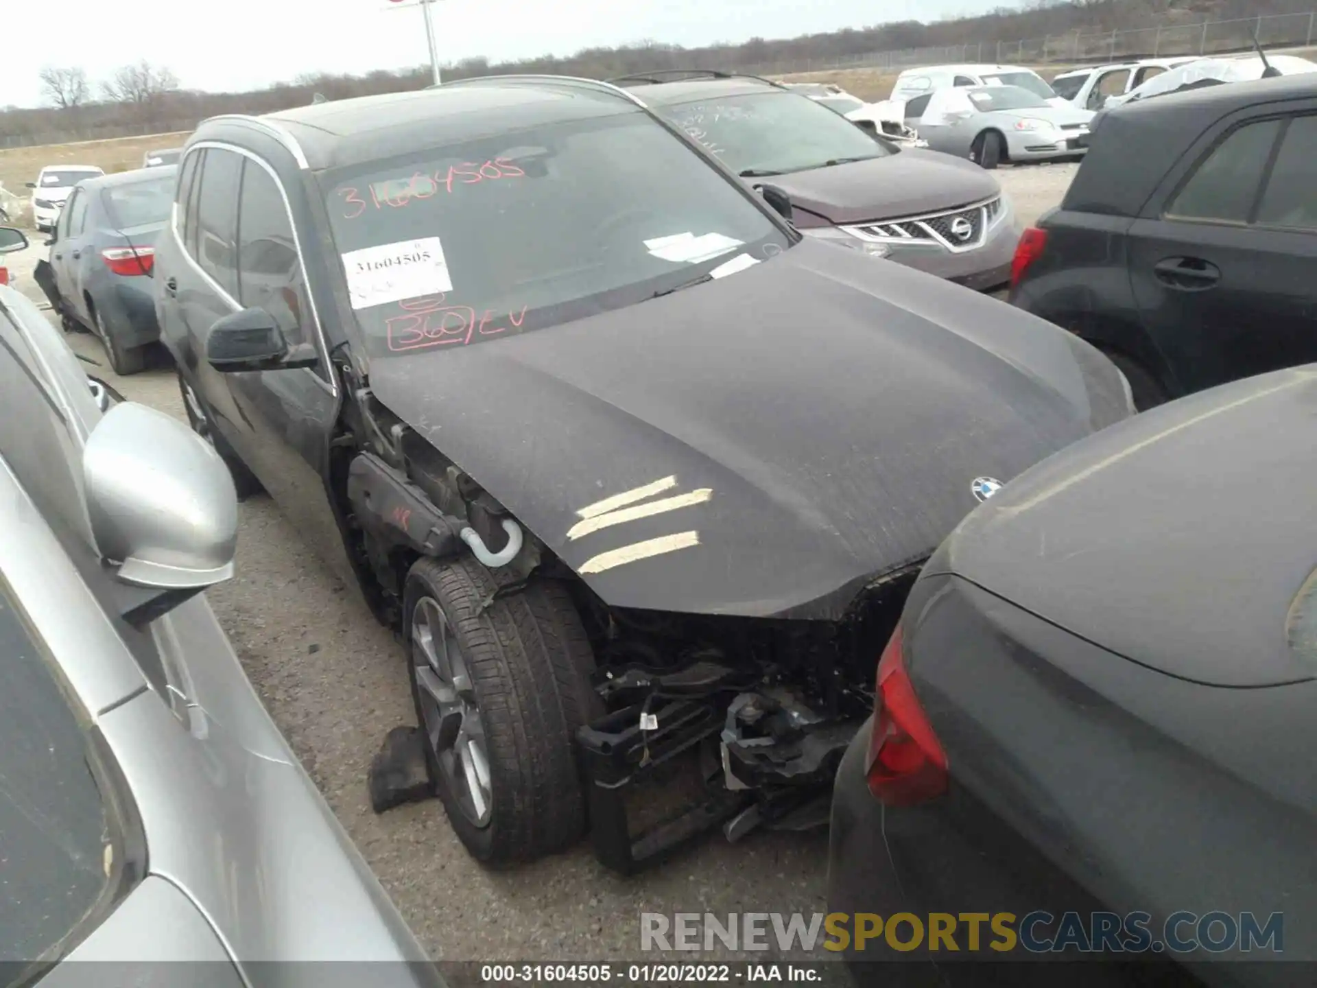
[[[1105,113],[1011,302],[1104,349],[1141,408],[1317,361],[1314,162],[1312,75]]]

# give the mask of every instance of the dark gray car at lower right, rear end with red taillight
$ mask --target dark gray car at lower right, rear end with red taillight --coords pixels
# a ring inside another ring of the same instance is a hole
[[[930,933],[855,960],[1313,983],[1314,406],[1314,365],[1160,406],[1019,474],[928,560],[838,775],[828,906]]]

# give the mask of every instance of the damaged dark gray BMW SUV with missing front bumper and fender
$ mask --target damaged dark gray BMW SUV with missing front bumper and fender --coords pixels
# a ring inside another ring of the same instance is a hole
[[[486,862],[826,822],[921,563],[1131,411],[589,80],[205,121],[155,282],[194,428],[406,638]]]

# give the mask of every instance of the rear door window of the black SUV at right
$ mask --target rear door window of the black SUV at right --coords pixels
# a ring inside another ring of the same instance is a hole
[[[1280,124],[1262,120],[1233,130],[1198,165],[1166,215],[1177,220],[1247,223]]]

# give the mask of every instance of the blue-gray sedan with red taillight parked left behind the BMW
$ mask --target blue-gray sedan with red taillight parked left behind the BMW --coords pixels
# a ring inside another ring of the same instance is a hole
[[[49,241],[53,291],[42,287],[66,329],[101,339],[120,375],[141,370],[159,339],[151,273],[176,180],[178,166],[169,165],[82,182]]]

